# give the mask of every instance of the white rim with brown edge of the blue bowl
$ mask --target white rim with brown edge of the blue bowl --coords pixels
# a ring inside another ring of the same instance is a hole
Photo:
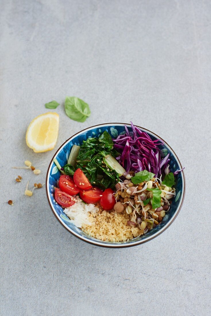
[[[95,245],[95,246],[100,246],[100,247],[105,247],[105,248],[125,248],[125,247],[132,247],[132,246],[137,246],[137,245],[140,245],[140,244],[143,244],[149,240],[152,240],[154,239],[155,237],[157,237],[158,235],[160,235],[161,233],[163,233],[171,224],[172,222],[175,220],[175,218],[178,216],[179,214],[179,211],[181,210],[181,207],[183,205],[183,202],[184,202],[184,197],[185,197],[185,189],[186,189],[186,181],[185,181],[185,175],[184,175],[184,171],[181,172],[182,174],[182,195],[180,198],[180,203],[177,207],[177,210],[175,211],[174,215],[172,216],[172,218],[170,219],[170,221],[163,227],[161,228],[159,231],[157,231],[154,235],[152,236],[149,236],[143,240],[138,240],[137,242],[133,242],[132,244],[128,243],[128,244],[102,244],[99,240],[96,241],[96,240],[87,240],[85,239],[83,236],[75,233],[73,230],[71,230],[71,228],[69,228],[65,223],[62,222],[61,218],[58,216],[57,212],[54,210],[54,207],[53,207],[53,204],[51,203],[51,198],[50,198],[50,191],[49,191],[49,178],[50,178],[50,170],[51,170],[51,167],[53,165],[53,159],[57,157],[58,153],[63,149],[63,147],[69,143],[72,138],[74,138],[75,136],[78,136],[80,135],[82,132],[85,132],[85,131],[89,131],[89,130],[92,130],[93,128],[100,128],[101,126],[131,126],[130,124],[128,123],[103,123],[103,124],[97,124],[97,125],[93,125],[93,126],[90,126],[90,127],[87,127],[77,133],[75,133],[74,135],[72,135],[71,137],[69,137],[56,151],[56,153],[53,155],[52,159],[51,159],[51,162],[48,166],[48,169],[47,169],[47,173],[46,173],[46,179],[45,179],[45,191],[46,191],[46,196],[47,196],[47,200],[48,200],[48,204],[50,205],[50,208],[51,208],[51,211],[53,212],[54,216],[57,218],[57,220],[60,222],[60,224],[69,232],[71,233],[72,235],[74,235],[75,237],[79,238],[80,240],[83,240],[89,244],[92,244],[92,245]],[[137,127],[139,127],[142,131],[146,131],[146,132],[149,132],[150,134],[152,134],[153,136],[159,138],[159,139],[162,139],[164,144],[166,145],[167,148],[169,148],[172,153],[174,154],[177,162],[178,162],[178,166],[180,169],[182,169],[182,164],[177,156],[177,154],[174,152],[174,150],[172,149],[171,146],[169,146],[168,143],[166,143],[166,141],[158,136],[157,134],[155,134],[154,132],[142,127],[142,126],[139,126],[139,125],[135,125]]]

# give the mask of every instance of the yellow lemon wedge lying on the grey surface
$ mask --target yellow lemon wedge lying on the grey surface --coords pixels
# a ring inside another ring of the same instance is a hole
[[[47,112],[31,121],[26,132],[26,143],[35,153],[54,149],[59,130],[59,115]]]

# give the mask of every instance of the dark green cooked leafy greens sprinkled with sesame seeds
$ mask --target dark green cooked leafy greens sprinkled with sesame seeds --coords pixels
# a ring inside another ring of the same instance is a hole
[[[106,165],[105,157],[109,155],[116,157],[118,153],[113,149],[112,137],[104,131],[99,138],[93,137],[83,141],[76,168],[81,168],[93,186],[101,189],[114,188],[119,181],[119,174],[112,170],[112,166]]]

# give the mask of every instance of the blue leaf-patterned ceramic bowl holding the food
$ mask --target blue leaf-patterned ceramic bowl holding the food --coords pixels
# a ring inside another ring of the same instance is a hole
[[[130,124],[126,124],[128,126],[129,131],[132,131]],[[153,132],[138,126],[142,131],[145,131],[148,133],[148,135],[153,139],[162,139],[158,135],[154,134]],[[99,135],[107,131],[109,134],[116,138],[119,134],[124,134],[124,124],[123,123],[106,123],[106,124],[100,124],[95,125],[92,127],[89,127],[83,131],[80,131],[70,137],[68,140],[66,140],[63,145],[57,150],[56,154],[53,156],[50,165],[48,167],[47,175],[46,175],[46,194],[48,203],[51,207],[51,210],[53,214],[56,216],[57,220],[63,225],[64,228],[66,228],[71,234],[78,237],[81,240],[84,240],[90,244],[96,245],[96,246],[103,246],[103,247],[112,247],[112,248],[124,248],[129,246],[136,246],[139,244],[142,244],[148,240],[153,239],[154,237],[161,234],[166,228],[170,226],[170,224],[174,221],[176,216],[178,215],[183,201],[184,201],[184,195],[185,195],[185,177],[184,177],[184,171],[179,173],[176,176],[176,196],[172,199],[171,208],[168,213],[166,213],[166,216],[163,218],[163,221],[160,225],[153,228],[152,230],[148,231],[147,234],[142,235],[140,237],[136,237],[129,241],[122,241],[122,242],[109,242],[109,241],[102,241],[96,238],[93,238],[84,232],[81,231],[80,228],[77,228],[75,225],[73,225],[69,218],[64,214],[63,209],[60,205],[57,204],[57,202],[54,199],[54,190],[53,187],[57,186],[57,179],[59,179],[60,172],[58,171],[57,166],[53,162],[53,159],[56,158],[61,166],[64,166],[67,163],[70,150],[72,146],[75,145],[81,145],[83,140],[86,140],[90,137],[99,137]],[[164,140],[163,140],[164,141]],[[182,169],[182,165],[173,151],[173,149],[164,141],[164,145],[160,145],[160,149],[162,150],[164,155],[167,155],[170,153],[170,169],[172,171],[176,171],[177,169]]]

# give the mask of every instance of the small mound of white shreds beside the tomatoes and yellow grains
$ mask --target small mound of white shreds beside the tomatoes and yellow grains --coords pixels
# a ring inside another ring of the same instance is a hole
[[[88,212],[96,213],[98,211],[99,208],[94,204],[84,204],[81,200],[77,200],[75,204],[64,209],[64,213],[70,218],[70,222],[79,228],[82,224],[92,225],[88,220]]]

